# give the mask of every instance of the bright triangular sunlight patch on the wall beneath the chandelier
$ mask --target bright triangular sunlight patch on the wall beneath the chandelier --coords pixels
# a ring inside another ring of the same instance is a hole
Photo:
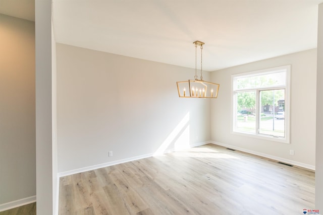
[[[160,145],[160,147],[154,153],[154,156],[163,154],[167,151],[188,149],[190,147],[189,120],[190,113],[188,112],[170,133],[170,135],[168,135],[163,144]],[[172,145],[174,145],[174,149],[168,149]]]

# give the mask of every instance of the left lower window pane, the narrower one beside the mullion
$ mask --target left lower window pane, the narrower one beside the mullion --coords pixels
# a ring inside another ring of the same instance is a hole
[[[256,92],[237,93],[236,130],[255,133],[256,130]]]

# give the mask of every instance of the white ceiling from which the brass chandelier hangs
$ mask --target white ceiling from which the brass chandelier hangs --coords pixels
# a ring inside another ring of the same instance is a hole
[[[32,1],[0,0],[0,13],[32,20],[22,15]],[[6,12],[4,2],[17,10]],[[213,71],[315,48],[323,0],[52,2],[59,43],[194,68],[200,40],[203,69]]]

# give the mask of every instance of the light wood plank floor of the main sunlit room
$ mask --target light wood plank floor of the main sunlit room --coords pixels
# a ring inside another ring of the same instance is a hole
[[[204,145],[60,179],[59,214],[303,214],[314,172]]]

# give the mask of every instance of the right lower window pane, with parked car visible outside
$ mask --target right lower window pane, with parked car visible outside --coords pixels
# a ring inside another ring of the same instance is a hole
[[[259,93],[259,134],[285,137],[285,90]]]

